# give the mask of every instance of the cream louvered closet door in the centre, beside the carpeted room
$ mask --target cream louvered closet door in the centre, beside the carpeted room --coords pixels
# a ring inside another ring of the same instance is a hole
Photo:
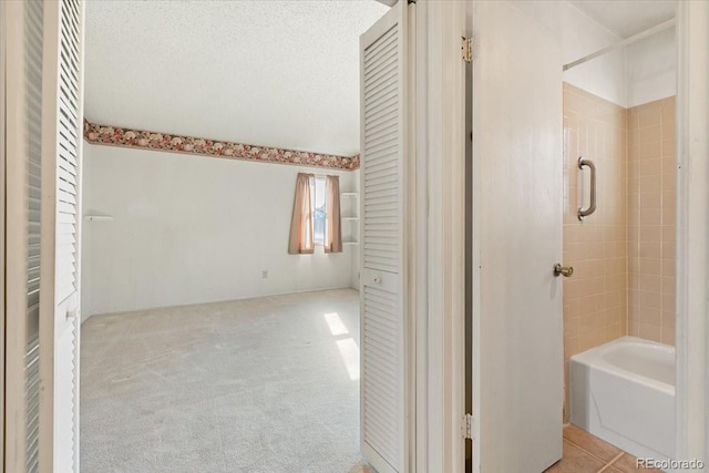
[[[405,472],[403,183],[407,2],[360,38],[361,450],[380,472]]]

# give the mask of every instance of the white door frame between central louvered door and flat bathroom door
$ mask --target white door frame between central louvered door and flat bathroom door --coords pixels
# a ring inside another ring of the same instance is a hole
[[[403,1],[403,0],[402,0]],[[415,12],[415,471],[463,472],[466,2]]]

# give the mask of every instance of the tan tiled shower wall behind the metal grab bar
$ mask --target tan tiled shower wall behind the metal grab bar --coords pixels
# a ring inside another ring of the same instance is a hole
[[[589,172],[596,165],[597,207],[580,222],[589,203]],[[564,372],[568,360],[627,332],[627,111],[564,84]],[[568,405],[568,390],[566,390]],[[567,410],[568,411],[568,410]],[[566,417],[568,412],[566,412]]]

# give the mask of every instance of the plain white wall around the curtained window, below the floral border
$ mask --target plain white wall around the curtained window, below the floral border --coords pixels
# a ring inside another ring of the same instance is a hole
[[[84,144],[83,315],[349,287],[342,254],[288,255],[298,172],[347,171]],[[261,270],[268,278],[261,278]]]

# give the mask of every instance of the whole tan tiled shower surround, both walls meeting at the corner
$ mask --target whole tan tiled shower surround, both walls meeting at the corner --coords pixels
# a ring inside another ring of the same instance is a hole
[[[631,335],[674,345],[675,100],[625,109],[564,83],[564,373],[569,359]],[[597,168],[597,209],[588,171]]]

